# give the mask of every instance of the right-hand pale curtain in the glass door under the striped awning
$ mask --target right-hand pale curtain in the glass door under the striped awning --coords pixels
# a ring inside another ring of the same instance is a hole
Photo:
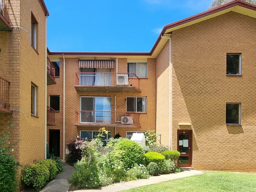
[[[95,85],[110,86],[111,85],[111,69],[96,68]]]

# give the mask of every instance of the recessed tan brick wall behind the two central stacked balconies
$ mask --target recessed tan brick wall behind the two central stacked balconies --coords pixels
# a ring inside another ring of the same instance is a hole
[[[116,133],[122,137],[126,137],[126,131],[146,131],[148,129],[155,130],[156,117],[155,117],[155,59],[148,59],[148,78],[140,80],[141,93],[118,93],[118,92],[77,92],[74,88],[75,75],[79,72],[78,58],[66,58],[66,96],[65,96],[65,145],[70,140],[75,139],[76,133],[80,130],[99,130],[100,127],[76,127],[75,124],[75,111],[80,110],[80,96],[110,96],[111,97],[111,110],[114,111],[115,96],[116,96],[116,110],[126,111],[126,96],[147,96],[148,112],[140,114],[141,128],[127,128],[116,127]],[[116,72],[116,68],[111,72]],[[127,59],[118,58],[118,72],[127,73]],[[60,157],[63,156],[63,59],[60,59],[60,78],[56,79],[57,84],[47,87],[47,103],[49,103],[49,95],[60,95],[60,112],[55,113],[55,126],[48,126],[49,129],[60,129]],[[150,85],[150,86],[149,86]],[[111,131],[111,136],[115,136],[114,127],[106,127],[106,130]],[[49,131],[47,131],[49,135]],[[47,140],[49,141],[49,136]],[[66,148],[66,146],[65,146]]]

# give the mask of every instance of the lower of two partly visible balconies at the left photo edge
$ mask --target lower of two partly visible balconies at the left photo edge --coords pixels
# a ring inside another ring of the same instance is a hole
[[[0,113],[12,113],[12,111],[9,110],[9,90],[10,81],[0,76]]]

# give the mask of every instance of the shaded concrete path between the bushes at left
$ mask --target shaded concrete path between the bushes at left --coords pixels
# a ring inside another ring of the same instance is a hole
[[[71,184],[68,183],[69,175],[73,171],[73,167],[69,166],[65,162],[64,170],[61,174],[57,175],[50,183],[48,183],[40,192],[67,192]]]

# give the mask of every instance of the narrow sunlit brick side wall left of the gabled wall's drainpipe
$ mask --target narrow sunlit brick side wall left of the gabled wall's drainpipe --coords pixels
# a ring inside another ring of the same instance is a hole
[[[161,144],[170,145],[170,44],[169,40],[156,57],[156,133],[161,134]],[[158,137],[158,140],[160,137]]]

